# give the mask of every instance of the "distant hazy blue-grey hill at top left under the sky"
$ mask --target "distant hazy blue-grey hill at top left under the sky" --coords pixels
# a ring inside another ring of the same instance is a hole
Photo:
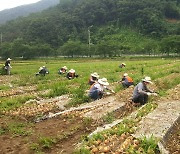
[[[59,0],[41,0],[37,3],[0,11],[0,24],[16,19],[17,17],[28,16],[30,13],[40,12],[57,4],[59,4]]]

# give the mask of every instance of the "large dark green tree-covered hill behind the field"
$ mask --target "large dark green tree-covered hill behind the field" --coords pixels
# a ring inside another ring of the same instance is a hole
[[[0,26],[0,55],[179,54],[178,0],[61,0]]]

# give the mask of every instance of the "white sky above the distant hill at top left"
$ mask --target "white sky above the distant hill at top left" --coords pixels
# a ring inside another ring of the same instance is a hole
[[[0,11],[20,5],[36,3],[40,0],[0,0]]]

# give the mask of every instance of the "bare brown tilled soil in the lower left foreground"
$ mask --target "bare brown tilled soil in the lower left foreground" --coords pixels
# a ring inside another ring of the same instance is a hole
[[[9,132],[9,123],[2,122],[7,119],[1,118],[0,120],[0,128],[5,130],[5,133],[0,136],[1,154],[35,153],[37,151],[43,151],[45,153],[64,151],[64,153],[71,153],[78,140],[83,135],[89,134],[97,126],[94,121],[86,122],[82,118],[73,115],[68,115],[68,117],[59,116],[42,121],[41,123],[35,123],[32,126],[27,126],[25,128],[26,131],[31,130],[29,135],[18,135],[15,132],[11,132],[12,130]],[[12,121],[11,118],[8,120]],[[26,123],[17,119],[16,121],[18,123]],[[45,143],[48,139],[54,140],[53,145],[49,147]]]

